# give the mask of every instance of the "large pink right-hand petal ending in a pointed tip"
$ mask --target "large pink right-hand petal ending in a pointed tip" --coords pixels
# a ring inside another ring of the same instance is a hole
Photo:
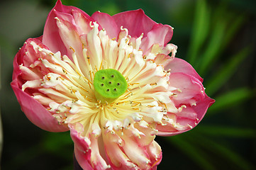
[[[171,73],[169,86],[176,88],[171,96],[179,113],[167,113],[172,121],[167,125],[157,125],[157,135],[177,135],[194,128],[204,117],[207,109],[214,103],[204,92],[204,86],[199,79],[181,72]]]

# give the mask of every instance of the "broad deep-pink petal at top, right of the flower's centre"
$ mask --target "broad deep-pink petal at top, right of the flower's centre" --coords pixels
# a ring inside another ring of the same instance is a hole
[[[135,38],[140,37],[141,33],[147,35],[153,26],[157,24],[146,16],[142,9],[117,13],[113,16],[113,19],[116,21],[118,28],[121,28],[121,26],[127,28],[129,35]]]

